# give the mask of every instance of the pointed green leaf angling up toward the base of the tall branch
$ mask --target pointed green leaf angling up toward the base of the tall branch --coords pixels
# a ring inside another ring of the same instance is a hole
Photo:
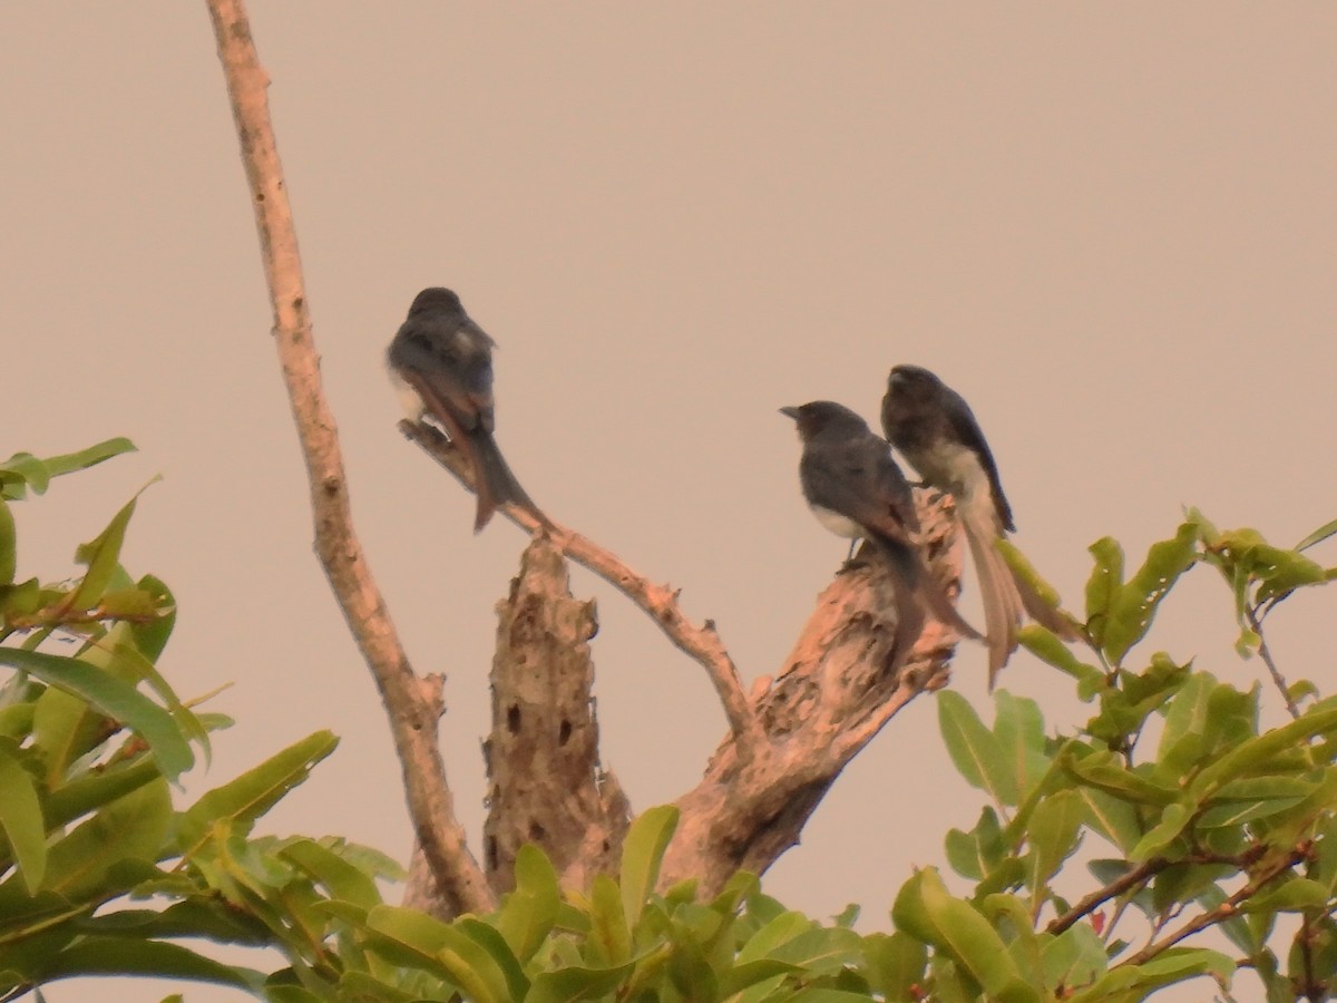
[[[183,856],[194,853],[221,820],[231,822],[233,832],[249,832],[257,818],[306,780],[312,768],[337,745],[338,738],[330,732],[314,732],[237,780],[206,793],[178,818]]]

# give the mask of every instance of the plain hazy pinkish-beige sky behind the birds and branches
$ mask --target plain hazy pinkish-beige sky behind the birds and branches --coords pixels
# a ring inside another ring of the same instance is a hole
[[[1070,599],[1092,540],[1140,559],[1185,504],[1282,544],[1337,516],[1332,4],[251,7],[357,528],[416,667],[449,677],[475,836],[492,606],[525,539],[475,538],[472,499],[394,431],[382,352],[422,286],[500,344],[499,440],[533,497],[681,586],[749,679],[844,554],[775,409],[874,419],[896,362],[972,403],[1019,543]],[[20,571],[67,574],[162,473],[124,562],[175,588],[168,678],[234,682],[213,706],[238,718],[190,789],[332,728],[340,750],[266,830],[406,855],[382,711],[312,554],[203,4],[5,4],[0,87],[0,453],[140,448],[20,507]],[[636,808],[671,800],[725,728],[710,685],[620,596],[574,586],[599,600],[606,762]],[[1330,602],[1269,621],[1284,669],[1324,686]],[[964,608],[979,622],[972,583]],[[1162,619],[1177,658],[1258,675],[1210,572]],[[955,685],[987,711],[984,663],[963,649]],[[1084,719],[1025,655],[1003,686],[1051,730]],[[981,804],[924,698],[769,891],[885,927]]]

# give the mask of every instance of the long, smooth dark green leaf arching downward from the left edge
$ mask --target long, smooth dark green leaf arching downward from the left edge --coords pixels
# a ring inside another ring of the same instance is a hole
[[[48,686],[79,697],[107,717],[120,721],[148,742],[159,769],[168,780],[175,782],[195,764],[195,756],[171,714],[134,686],[87,662],[40,651],[0,647],[0,665],[21,669]]]

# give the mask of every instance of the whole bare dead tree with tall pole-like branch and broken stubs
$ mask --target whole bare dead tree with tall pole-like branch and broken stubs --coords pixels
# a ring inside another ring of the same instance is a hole
[[[798,841],[804,824],[845,765],[910,699],[943,686],[955,637],[931,622],[915,651],[893,663],[894,603],[876,556],[836,575],[774,677],[745,693],[715,625],[691,622],[678,592],[632,571],[591,539],[535,535],[509,595],[499,603],[487,740],[489,814],[483,864],[468,847],[437,746],[444,710],[439,677],[417,675],[353,530],[338,436],[321,389],[297,237],[269,116],[269,79],[255,55],[242,0],[209,0],[241,140],[274,313],[273,336],[306,460],[316,551],[376,679],[398,754],[417,839],[405,900],[439,915],[487,911],[512,881],[515,855],[535,843],[563,880],[584,887],[614,869],[631,805],[599,757],[591,690],[592,602],[575,599],[568,562],[582,564],[640,607],[707,673],[729,721],[695,788],[677,800],[681,821],[662,883],[699,879],[710,896],[737,869],[763,872]],[[435,427],[401,431],[469,487],[464,457]],[[933,574],[960,574],[951,502],[919,497]]]

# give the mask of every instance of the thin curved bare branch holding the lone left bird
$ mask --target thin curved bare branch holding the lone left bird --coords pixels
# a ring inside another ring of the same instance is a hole
[[[455,475],[461,484],[472,489],[468,461],[441,432],[432,425],[406,420],[400,421],[400,431]],[[511,522],[529,532],[541,528],[539,522],[523,508],[507,506],[500,511]],[[659,626],[659,630],[679,651],[691,655],[706,670],[725,709],[729,728],[738,741],[741,758],[750,758],[766,740],[766,734],[747,702],[747,695],[738,679],[738,669],[723,641],[719,639],[714,622],[706,621],[701,626],[693,623],[678,606],[677,590],[654,584],[650,579],[638,575],[620,558],[588,536],[582,536],[556,523],[550,532],[566,556],[599,575],[626,595]]]

